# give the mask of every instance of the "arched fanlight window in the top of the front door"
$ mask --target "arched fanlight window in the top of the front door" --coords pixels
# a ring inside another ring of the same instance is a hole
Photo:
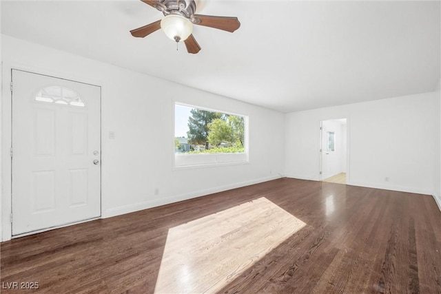
[[[35,96],[35,101],[85,107],[85,103],[78,93],[60,86],[41,89]]]

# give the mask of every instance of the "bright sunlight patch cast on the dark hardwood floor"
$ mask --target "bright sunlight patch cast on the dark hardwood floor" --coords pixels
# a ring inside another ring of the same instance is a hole
[[[169,229],[155,293],[213,293],[302,229],[267,198]]]

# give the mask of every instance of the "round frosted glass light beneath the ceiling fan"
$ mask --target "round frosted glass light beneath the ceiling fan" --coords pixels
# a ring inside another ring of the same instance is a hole
[[[161,29],[170,39],[185,41],[193,32],[193,24],[189,19],[179,14],[169,14],[161,21]]]

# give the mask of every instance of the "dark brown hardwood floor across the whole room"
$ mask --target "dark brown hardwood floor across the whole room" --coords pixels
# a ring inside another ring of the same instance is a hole
[[[180,271],[163,269],[170,230],[186,224],[197,233],[196,226],[203,229],[206,220],[207,226],[213,222],[236,226],[218,240],[232,240],[234,234],[247,240],[260,224],[244,224],[248,227],[241,231],[241,224],[223,220],[221,211],[260,198],[275,204],[271,211],[280,207],[287,212],[280,209],[288,216],[284,214],[286,221],[274,226],[274,233],[289,229],[291,217],[293,223],[304,225],[252,258],[243,270],[225,277],[227,283],[218,283],[216,292],[441,293],[441,213],[431,196],[295,179],[273,180],[3,242],[1,293],[154,293],[160,271],[165,284],[185,276],[186,285],[196,283],[198,277],[197,286],[205,286],[201,277],[209,281],[224,255],[203,271],[192,272],[191,262],[178,264]],[[256,213],[271,217],[262,207]],[[203,235],[197,238],[202,242]],[[263,239],[267,241],[247,240],[247,246],[236,246],[238,251],[231,255],[245,255],[254,250],[252,244],[269,246],[272,242],[271,234]],[[182,235],[178,242],[184,247],[186,240]],[[200,249],[194,250],[195,258],[207,262],[202,251],[196,252]],[[186,266],[185,274],[182,266]],[[13,282],[19,288],[26,286],[21,282],[38,282],[39,288],[8,290]]]

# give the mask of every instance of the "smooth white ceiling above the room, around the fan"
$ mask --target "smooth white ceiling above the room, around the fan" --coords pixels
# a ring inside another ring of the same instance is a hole
[[[1,32],[280,112],[431,92],[440,80],[440,1],[203,0],[234,32],[194,26],[201,45],[161,30],[139,0],[1,1]]]

